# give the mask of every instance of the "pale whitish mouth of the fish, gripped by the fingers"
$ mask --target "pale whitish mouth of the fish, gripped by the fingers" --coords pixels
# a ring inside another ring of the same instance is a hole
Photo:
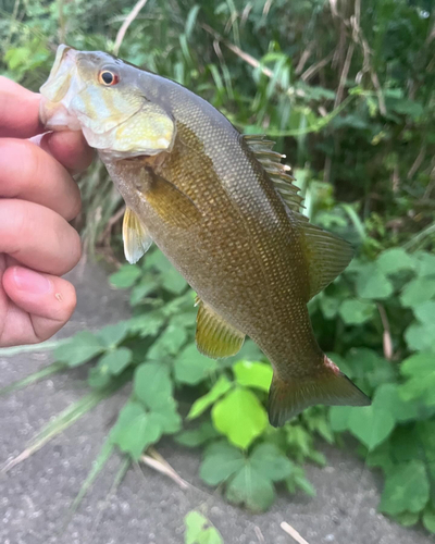
[[[39,119],[49,131],[82,128],[77,116],[69,111],[71,101],[84,88],[77,74],[78,54],[72,47],[59,46],[49,78],[39,89]]]

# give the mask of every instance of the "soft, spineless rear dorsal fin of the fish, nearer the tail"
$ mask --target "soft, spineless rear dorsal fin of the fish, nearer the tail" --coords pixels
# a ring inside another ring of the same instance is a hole
[[[353,248],[343,238],[311,223],[300,223],[300,228],[312,298],[345,270],[353,256]]]

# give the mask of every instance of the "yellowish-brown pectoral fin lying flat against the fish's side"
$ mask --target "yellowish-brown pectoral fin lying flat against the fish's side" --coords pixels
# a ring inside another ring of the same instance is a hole
[[[148,169],[151,183],[144,191],[147,202],[167,224],[189,228],[197,224],[202,214],[195,202],[174,184]]]

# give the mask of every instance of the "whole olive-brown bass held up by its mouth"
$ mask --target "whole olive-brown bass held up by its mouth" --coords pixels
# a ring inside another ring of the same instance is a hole
[[[234,356],[249,336],[268,357],[273,426],[318,404],[370,404],[319,347],[307,307],[353,249],[300,212],[272,140],[101,51],[59,46],[40,94],[46,128],[82,131],[122,195],[128,262],[154,243],[196,292],[198,350]]]

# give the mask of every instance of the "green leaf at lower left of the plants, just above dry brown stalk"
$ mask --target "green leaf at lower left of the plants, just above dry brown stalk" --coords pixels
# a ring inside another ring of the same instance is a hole
[[[159,441],[162,429],[141,405],[129,400],[121,410],[110,435],[122,452],[139,459],[146,447]]]

